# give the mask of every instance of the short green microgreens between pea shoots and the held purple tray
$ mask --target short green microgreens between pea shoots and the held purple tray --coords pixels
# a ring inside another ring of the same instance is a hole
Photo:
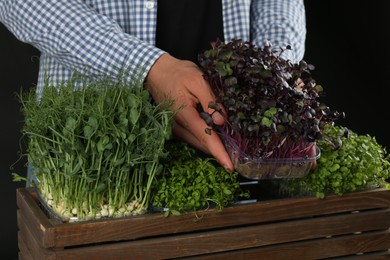
[[[184,143],[167,146],[170,156],[164,160],[164,173],[159,179],[153,205],[168,208],[166,214],[196,211],[215,205],[222,210],[239,197],[242,191],[238,173],[227,173],[216,166],[213,158],[202,158]]]

